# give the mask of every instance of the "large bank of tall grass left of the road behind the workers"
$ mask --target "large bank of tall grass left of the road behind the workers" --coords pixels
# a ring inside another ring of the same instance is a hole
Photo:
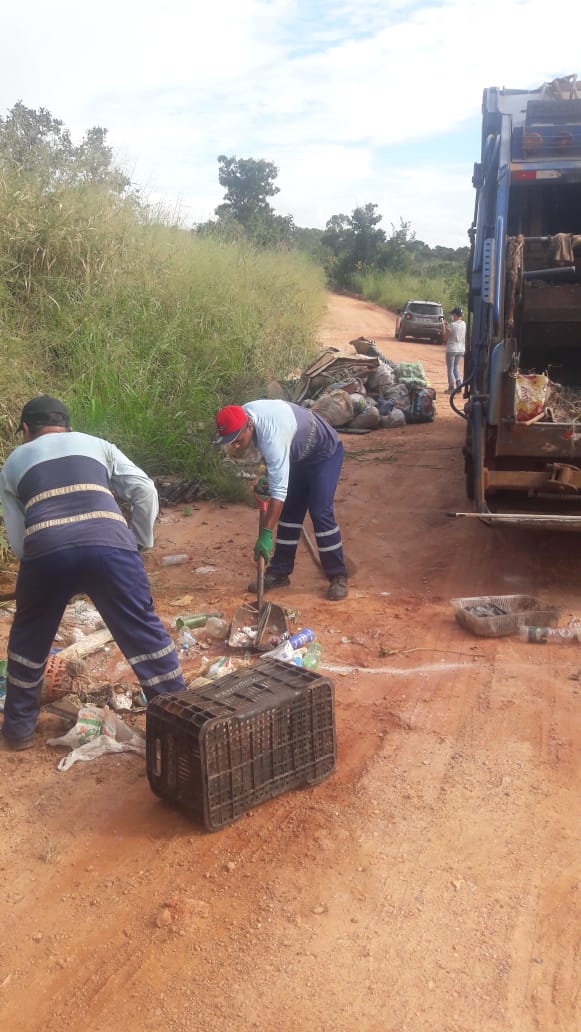
[[[23,402],[54,393],[76,429],[152,476],[227,493],[216,410],[302,366],[323,304],[300,254],[200,238],[95,187],[46,194],[0,175],[0,458]]]

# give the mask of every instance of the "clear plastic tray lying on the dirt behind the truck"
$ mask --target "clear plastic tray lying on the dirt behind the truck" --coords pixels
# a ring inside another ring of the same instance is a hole
[[[475,606],[499,606],[506,615],[478,616],[469,612]],[[548,606],[530,594],[483,594],[475,599],[452,599],[458,623],[483,638],[502,638],[512,635],[519,627],[554,627],[560,610]]]

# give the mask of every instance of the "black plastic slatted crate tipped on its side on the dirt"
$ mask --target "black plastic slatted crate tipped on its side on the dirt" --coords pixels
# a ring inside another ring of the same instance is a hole
[[[148,706],[152,791],[208,831],[284,792],[317,784],[335,766],[332,682],[292,664],[261,659]]]

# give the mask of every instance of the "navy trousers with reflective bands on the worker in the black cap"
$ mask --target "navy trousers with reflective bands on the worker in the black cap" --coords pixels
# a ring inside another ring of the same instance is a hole
[[[21,562],[19,571],[8,639],[2,729],[6,738],[28,738],[34,731],[46,660],[65,607],[75,594],[89,595],[148,700],[186,688],[173,642],[154,611],[139,553],[102,547],[52,552]]]

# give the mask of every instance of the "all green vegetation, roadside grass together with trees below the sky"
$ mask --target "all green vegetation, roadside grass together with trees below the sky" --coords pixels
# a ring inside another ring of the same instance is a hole
[[[218,162],[224,202],[187,231],[115,167],[105,129],[75,146],[44,108],[0,118],[0,462],[22,405],[45,392],[152,476],[233,496],[215,412],[311,359],[325,276],[391,309],[464,300],[467,249],[431,249],[402,221],[387,236],[377,204],[301,229],[268,202],[276,165]]]

